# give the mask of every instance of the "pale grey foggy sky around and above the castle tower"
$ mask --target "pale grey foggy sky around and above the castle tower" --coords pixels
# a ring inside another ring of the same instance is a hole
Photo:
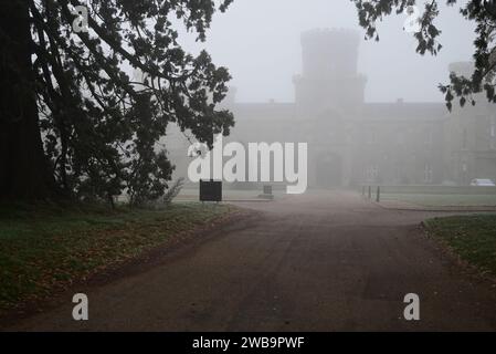
[[[362,40],[359,72],[368,77],[367,102],[443,101],[437,84],[448,81],[448,63],[469,60],[474,51],[474,25],[458,8],[441,6],[437,56],[415,53],[413,34],[403,32],[405,14],[378,24],[380,42]],[[293,102],[292,77],[302,71],[300,33],[316,28],[365,34],[349,0],[234,0],[214,17],[205,43],[191,35],[181,35],[180,42],[193,53],[207,49],[215,64],[230,69],[239,102]]]

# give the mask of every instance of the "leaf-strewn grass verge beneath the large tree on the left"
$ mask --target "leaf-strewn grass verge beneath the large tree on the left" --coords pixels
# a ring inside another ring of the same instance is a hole
[[[49,296],[232,210],[198,202],[162,210],[0,208],[0,312]]]

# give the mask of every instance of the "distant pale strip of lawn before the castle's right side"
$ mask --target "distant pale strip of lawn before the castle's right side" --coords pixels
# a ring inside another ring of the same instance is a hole
[[[398,200],[424,207],[496,206],[496,195],[382,194],[381,200]]]

